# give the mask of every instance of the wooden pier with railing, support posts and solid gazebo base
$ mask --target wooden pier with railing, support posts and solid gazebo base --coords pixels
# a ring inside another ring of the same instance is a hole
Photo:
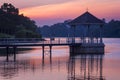
[[[25,39],[24,39],[25,40]],[[104,53],[104,44],[101,44],[99,40],[93,39],[94,43],[82,42],[80,38],[76,38],[74,42],[72,38],[57,38],[55,40],[46,40],[46,41],[18,41],[17,39],[11,41],[9,39],[0,42],[1,48],[6,48],[6,61],[9,61],[9,50],[13,48],[14,61],[16,61],[16,49],[18,47],[30,47],[30,46],[40,46],[42,47],[42,57],[44,59],[45,47],[49,47],[50,58],[52,57],[52,47],[53,46],[69,46],[70,55],[76,54],[86,54],[86,53],[95,53],[103,54]],[[85,40],[85,39],[84,39]],[[26,43],[25,43],[26,42]],[[91,49],[92,48],[92,49]],[[100,49],[101,48],[101,49]]]

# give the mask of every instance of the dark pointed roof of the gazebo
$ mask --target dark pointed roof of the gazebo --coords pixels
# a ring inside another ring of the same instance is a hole
[[[69,25],[79,25],[79,24],[104,24],[104,22],[88,11],[80,15],[79,17],[75,18],[71,22],[68,23]]]

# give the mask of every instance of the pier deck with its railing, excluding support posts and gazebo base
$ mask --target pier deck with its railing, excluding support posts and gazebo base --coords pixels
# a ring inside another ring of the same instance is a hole
[[[0,39],[0,47],[19,47],[19,46],[79,46],[79,45],[84,45],[84,46],[90,46],[90,45],[101,45],[100,40],[98,39],[93,39],[92,41],[88,42],[88,39],[80,39],[80,38],[75,38],[73,41],[71,38],[58,38],[55,40],[45,40],[41,41],[40,39]]]

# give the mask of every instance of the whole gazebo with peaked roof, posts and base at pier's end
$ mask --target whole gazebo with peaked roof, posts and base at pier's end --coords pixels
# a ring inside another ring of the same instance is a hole
[[[75,40],[75,29],[76,27],[82,27],[82,35],[81,35],[81,43],[84,49],[89,49],[88,51],[90,53],[103,53],[104,52],[104,44],[102,41],[102,27],[104,25],[104,22],[98,18],[96,18],[94,15],[89,13],[88,11],[82,14],[81,16],[75,18],[71,22],[68,23],[71,28],[73,28],[73,36],[72,36],[72,43],[76,43]],[[92,29],[94,27],[98,27],[99,29],[99,35],[97,35],[97,38],[93,35],[95,34]],[[82,48],[83,48],[82,47]],[[77,53],[81,52],[78,47],[72,46],[71,47],[72,52],[73,50]],[[73,49],[74,48],[74,49]],[[96,49],[99,48],[99,49]],[[96,52],[97,50],[97,52]],[[83,49],[82,49],[83,51]],[[82,52],[84,53],[84,52]],[[85,52],[86,53],[86,52]],[[88,52],[87,52],[88,53]]]

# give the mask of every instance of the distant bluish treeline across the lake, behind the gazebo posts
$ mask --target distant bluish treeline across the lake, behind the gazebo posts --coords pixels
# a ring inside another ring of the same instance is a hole
[[[44,37],[67,37],[72,36],[73,29],[66,26],[66,21],[63,23],[57,23],[52,26],[42,26],[39,28]],[[83,27],[76,27],[75,35],[77,37],[82,36],[84,32]],[[99,37],[100,28],[96,26],[90,27],[90,32],[94,37]],[[86,31],[87,35],[87,31]],[[120,38],[120,21],[111,20],[108,23],[105,23],[102,31],[103,37],[116,37]]]

